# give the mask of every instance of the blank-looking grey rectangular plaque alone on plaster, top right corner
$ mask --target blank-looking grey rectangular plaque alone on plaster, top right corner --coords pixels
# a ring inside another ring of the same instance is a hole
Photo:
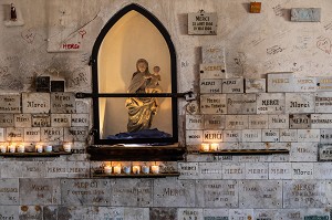
[[[291,9],[291,21],[295,22],[320,22],[320,8],[294,8]]]

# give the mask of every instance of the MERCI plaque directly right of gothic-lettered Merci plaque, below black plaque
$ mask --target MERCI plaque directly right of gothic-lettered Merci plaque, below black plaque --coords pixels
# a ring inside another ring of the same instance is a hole
[[[51,93],[51,113],[75,113],[74,93]]]

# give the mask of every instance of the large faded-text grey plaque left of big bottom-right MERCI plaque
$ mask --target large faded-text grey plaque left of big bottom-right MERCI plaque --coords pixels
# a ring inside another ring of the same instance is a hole
[[[240,208],[282,208],[282,182],[278,180],[239,181]]]

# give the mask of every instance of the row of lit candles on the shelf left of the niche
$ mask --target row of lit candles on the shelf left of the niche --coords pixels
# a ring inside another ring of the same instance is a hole
[[[52,145],[35,145],[34,149],[37,153],[52,153],[53,151],[53,146]],[[72,150],[72,144],[71,143],[65,143],[63,144],[63,150],[66,153],[70,153]],[[25,153],[25,146],[23,144],[14,145],[10,144],[9,146],[6,145],[0,145],[0,151],[1,153]]]

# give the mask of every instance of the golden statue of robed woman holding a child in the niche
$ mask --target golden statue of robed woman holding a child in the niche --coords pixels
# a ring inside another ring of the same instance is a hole
[[[148,63],[145,59],[136,62],[137,71],[133,74],[128,93],[160,93],[158,66],[154,67],[154,73],[149,73]],[[128,109],[127,130],[138,132],[149,129],[153,116],[157,114],[158,102],[156,97],[128,97],[126,99]]]

